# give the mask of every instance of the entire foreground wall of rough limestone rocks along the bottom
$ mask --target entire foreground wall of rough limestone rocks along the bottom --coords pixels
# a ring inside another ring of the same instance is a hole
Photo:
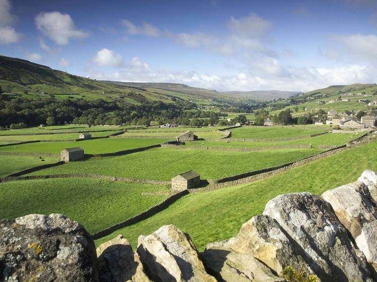
[[[204,252],[174,225],[140,236],[135,252],[121,235],[96,251],[62,215],[1,220],[0,280],[284,281],[282,269],[292,266],[318,281],[377,281],[376,185],[377,175],[364,171],[321,196],[277,196]]]

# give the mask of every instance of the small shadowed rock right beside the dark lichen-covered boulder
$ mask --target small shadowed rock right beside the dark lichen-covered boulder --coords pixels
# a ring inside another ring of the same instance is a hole
[[[139,256],[129,241],[118,235],[97,248],[99,276],[102,282],[149,282]]]

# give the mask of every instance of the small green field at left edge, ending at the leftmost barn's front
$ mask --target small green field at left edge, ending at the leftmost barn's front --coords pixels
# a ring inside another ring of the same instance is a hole
[[[39,157],[0,155],[0,177],[59,161],[59,158],[53,157],[43,157],[43,159],[45,160],[44,162],[42,162]]]

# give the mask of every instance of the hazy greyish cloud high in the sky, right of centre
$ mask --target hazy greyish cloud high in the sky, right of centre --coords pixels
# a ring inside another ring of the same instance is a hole
[[[234,34],[248,38],[264,36],[271,27],[268,21],[255,13],[251,13],[249,16],[239,19],[231,17],[228,25]]]

